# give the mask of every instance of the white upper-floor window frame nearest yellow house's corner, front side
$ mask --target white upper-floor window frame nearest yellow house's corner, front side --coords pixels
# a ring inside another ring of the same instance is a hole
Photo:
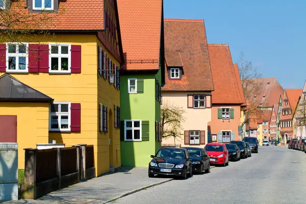
[[[51,54],[51,47],[58,46],[59,52],[61,52],[61,46],[68,46],[68,54]],[[59,69],[61,69],[61,58],[68,58],[68,70],[52,70],[51,59],[52,57],[58,58]],[[71,44],[49,44],[49,73],[71,73]]]

